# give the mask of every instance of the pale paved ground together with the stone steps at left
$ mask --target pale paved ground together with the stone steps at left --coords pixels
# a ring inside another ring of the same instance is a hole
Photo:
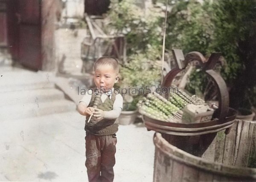
[[[54,73],[6,66],[0,75],[0,181],[86,182],[85,118]],[[153,134],[119,126],[115,182],[153,180]]]

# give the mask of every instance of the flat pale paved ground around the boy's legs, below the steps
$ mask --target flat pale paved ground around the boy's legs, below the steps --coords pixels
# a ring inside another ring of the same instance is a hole
[[[84,117],[76,111],[3,121],[0,128],[0,181],[87,181]],[[119,126],[115,182],[152,181],[153,134],[142,123]]]

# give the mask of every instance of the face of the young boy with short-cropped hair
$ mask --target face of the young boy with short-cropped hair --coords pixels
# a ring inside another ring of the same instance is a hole
[[[108,91],[112,89],[119,77],[112,65],[97,65],[94,82],[97,88]]]

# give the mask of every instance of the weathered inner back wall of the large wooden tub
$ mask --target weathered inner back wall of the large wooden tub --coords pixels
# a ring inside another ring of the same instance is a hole
[[[256,122],[236,120],[229,134],[218,132],[202,158],[209,162],[256,168]]]

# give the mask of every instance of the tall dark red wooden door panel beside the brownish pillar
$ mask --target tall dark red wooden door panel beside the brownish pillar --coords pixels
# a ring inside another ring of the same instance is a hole
[[[19,62],[33,70],[41,61],[41,0],[18,0]]]

